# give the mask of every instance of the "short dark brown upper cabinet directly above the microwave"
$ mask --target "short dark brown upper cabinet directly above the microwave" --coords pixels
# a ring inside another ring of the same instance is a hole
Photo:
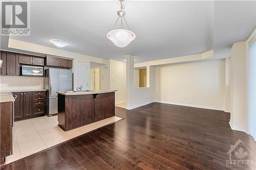
[[[19,54],[19,64],[33,64],[33,65],[44,65],[45,59],[43,57],[36,57],[26,54]]]

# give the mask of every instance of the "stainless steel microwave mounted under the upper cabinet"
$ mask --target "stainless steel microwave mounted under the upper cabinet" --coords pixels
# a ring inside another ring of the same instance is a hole
[[[20,67],[20,75],[22,76],[44,76],[44,67],[42,66],[30,66],[22,65]]]

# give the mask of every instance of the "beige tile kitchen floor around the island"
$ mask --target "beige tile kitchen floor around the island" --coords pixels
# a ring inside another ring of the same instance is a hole
[[[43,116],[14,123],[13,154],[6,157],[6,163],[32,155],[56,144],[111,124],[121,117],[113,116],[68,132],[58,126],[57,116]]]

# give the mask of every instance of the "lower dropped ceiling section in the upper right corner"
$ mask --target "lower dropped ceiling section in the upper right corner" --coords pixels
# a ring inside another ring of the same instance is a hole
[[[215,1],[214,57],[230,57],[234,42],[245,41],[256,27],[256,1]]]

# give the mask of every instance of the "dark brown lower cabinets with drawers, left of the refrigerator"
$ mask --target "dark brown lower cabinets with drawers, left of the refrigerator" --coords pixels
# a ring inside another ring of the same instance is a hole
[[[13,92],[17,95],[14,102],[14,120],[33,118],[45,115],[46,91]]]

